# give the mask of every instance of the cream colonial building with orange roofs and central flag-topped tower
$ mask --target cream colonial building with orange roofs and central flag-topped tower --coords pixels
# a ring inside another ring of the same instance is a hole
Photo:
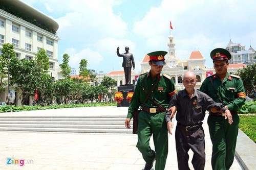
[[[175,82],[176,89],[184,89],[184,86],[182,84],[182,77],[184,72],[188,70],[193,71],[196,74],[196,77],[198,79],[198,83],[195,87],[196,89],[200,88],[202,82],[204,81],[204,79],[206,79],[206,77],[215,74],[213,64],[211,68],[205,67],[206,59],[204,58],[200,51],[192,51],[188,56],[187,60],[182,61],[176,56],[175,41],[172,35],[168,37],[167,45],[168,54],[165,56],[166,64],[163,66],[162,72],[165,72],[166,74],[172,77],[172,79]],[[241,49],[244,48],[238,48],[238,50]],[[237,48],[233,50],[237,50]],[[151,67],[148,64],[149,60],[150,57],[148,55],[145,55],[141,62],[141,72],[132,72],[132,84],[136,84],[136,77],[138,77],[143,72],[147,72],[150,70]],[[230,74],[234,74],[238,71],[238,69],[242,69],[245,66],[245,64],[229,64],[228,72],[230,72]],[[106,74],[106,76],[115,79],[117,81],[117,86],[124,84],[124,71],[111,71],[108,74]]]

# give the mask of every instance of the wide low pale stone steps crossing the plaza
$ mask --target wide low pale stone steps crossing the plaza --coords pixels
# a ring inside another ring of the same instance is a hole
[[[1,116],[0,131],[132,133],[125,116]],[[131,121],[131,125],[133,122]]]

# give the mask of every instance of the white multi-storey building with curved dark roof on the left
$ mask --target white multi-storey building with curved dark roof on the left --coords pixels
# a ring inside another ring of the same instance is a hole
[[[14,45],[19,59],[32,60],[44,48],[50,62],[49,74],[55,80],[58,78],[58,28],[56,21],[22,1],[0,1],[0,55],[4,43]],[[4,99],[7,90],[0,95]]]

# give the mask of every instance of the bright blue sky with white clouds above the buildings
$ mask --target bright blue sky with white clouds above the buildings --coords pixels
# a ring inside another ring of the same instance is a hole
[[[246,50],[256,48],[256,1],[252,0],[23,0],[55,19],[58,60],[70,55],[70,66],[79,68],[81,59],[88,69],[105,74],[123,70],[122,58],[129,46],[135,58],[135,72],[145,54],[168,51],[169,21],[174,30],[176,56],[186,60],[199,50],[212,67],[209,54],[225,48],[229,39]]]

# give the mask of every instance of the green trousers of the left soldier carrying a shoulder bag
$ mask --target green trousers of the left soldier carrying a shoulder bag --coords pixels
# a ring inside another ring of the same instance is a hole
[[[164,169],[168,154],[168,133],[164,116],[165,112],[148,113],[141,111],[139,114],[138,143],[136,147],[146,163],[151,164],[156,159],[155,170]],[[155,151],[150,147],[152,134]]]

